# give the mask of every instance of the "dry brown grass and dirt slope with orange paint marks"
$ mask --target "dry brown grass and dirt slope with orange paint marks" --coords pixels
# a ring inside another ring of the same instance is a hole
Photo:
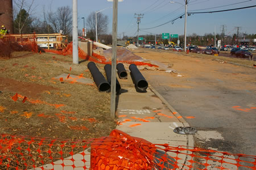
[[[108,136],[115,128],[109,117],[110,94],[100,93],[95,84],[53,79],[62,73],[92,78],[87,64],[75,65],[71,56],[51,53],[14,52],[11,59],[0,58],[0,133],[61,139]]]

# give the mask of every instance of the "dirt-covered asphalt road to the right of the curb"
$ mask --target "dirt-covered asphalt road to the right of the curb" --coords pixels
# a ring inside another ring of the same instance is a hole
[[[196,146],[256,155],[256,69],[180,57],[166,62],[174,62],[174,69],[184,77],[163,71],[142,73],[190,126],[223,137],[196,139]]]

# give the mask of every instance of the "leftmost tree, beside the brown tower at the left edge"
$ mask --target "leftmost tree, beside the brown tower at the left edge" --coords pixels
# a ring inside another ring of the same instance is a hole
[[[18,31],[19,34],[29,32],[29,26],[32,23],[32,11],[34,11],[33,5],[34,0],[31,3],[27,3],[26,0],[15,0],[14,1],[14,29]]]

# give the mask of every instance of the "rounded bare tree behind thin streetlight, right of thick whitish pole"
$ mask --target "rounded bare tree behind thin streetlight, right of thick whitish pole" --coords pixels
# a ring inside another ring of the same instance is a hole
[[[109,18],[107,15],[97,13],[97,32],[98,35],[106,34],[108,31]],[[92,32],[96,36],[96,16],[95,12],[90,13],[86,19],[86,26],[89,28],[89,32]]]

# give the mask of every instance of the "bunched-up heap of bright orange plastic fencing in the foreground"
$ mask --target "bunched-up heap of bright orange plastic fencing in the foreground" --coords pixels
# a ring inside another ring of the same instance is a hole
[[[151,169],[156,147],[141,138],[113,130],[109,137],[92,143],[90,168],[92,169]]]

